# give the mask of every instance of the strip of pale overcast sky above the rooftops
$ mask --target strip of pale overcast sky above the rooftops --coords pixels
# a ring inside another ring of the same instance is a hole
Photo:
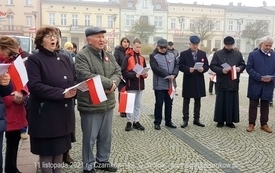
[[[108,1],[108,0],[83,0],[83,1]],[[198,4],[222,4],[228,5],[229,2],[233,2],[234,5],[237,5],[238,2],[242,2],[242,5],[245,6],[262,6],[263,0],[168,0],[168,2],[183,2],[187,4],[192,4],[194,1],[197,1]],[[275,0],[265,0],[268,6],[275,6]]]

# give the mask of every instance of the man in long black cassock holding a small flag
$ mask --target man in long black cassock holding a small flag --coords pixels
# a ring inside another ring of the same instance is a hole
[[[235,40],[227,36],[224,48],[215,52],[210,69],[216,73],[216,104],[214,121],[217,127],[235,128],[239,122],[239,82],[246,65],[241,52],[234,50]],[[228,67],[226,67],[228,66]]]

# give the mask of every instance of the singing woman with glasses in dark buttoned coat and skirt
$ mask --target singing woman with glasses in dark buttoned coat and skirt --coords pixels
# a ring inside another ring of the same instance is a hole
[[[29,135],[31,152],[39,155],[42,173],[60,173],[63,153],[71,149],[75,129],[73,97],[75,72],[68,57],[56,51],[58,32],[54,27],[40,28],[35,37],[39,52],[29,56],[26,64],[30,91]]]

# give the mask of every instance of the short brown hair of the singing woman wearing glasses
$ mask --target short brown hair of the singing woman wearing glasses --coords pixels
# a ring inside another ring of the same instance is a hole
[[[59,36],[57,29],[52,26],[41,27],[37,30],[35,39],[34,39],[36,49],[41,49],[43,47],[42,46],[43,38],[45,37],[45,35],[49,34],[50,32],[53,32],[54,34]],[[59,39],[57,39],[56,45],[59,45]]]

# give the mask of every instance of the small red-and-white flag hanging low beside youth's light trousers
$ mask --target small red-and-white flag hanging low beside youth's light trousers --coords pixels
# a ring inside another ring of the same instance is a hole
[[[120,93],[118,112],[134,113],[135,97],[134,93]]]

